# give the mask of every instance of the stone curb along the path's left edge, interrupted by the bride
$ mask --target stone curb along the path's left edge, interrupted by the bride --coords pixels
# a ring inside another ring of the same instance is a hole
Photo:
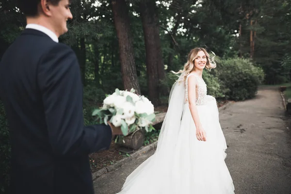
[[[229,107],[233,102],[226,102],[226,104],[224,104],[222,107],[219,107],[218,108],[218,111],[222,111],[222,110],[225,110],[227,107]],[[151,149],[155,149],[158,145],[158,141],[150,144],[150,145],[147,145],[147,146],[144,146],[142,148],[140,148],[139,150],[137,150],[136,152],[134,152],[133,154],[130,154],[130,156],[128,158],[124,158],[124,159],[121,159],[119,161],[117,161],[116,163],[113,163],[107,167],[103,167],[99,170],[97,170],[95,173],[92,173],[92,178],[93,180],[95,180],[96,178],[100,177],[101,175],[103,174],[106,174],[108,172],[111,172],[113,170],[116,170],[118,167],[122,166],[123,164],[131,161],[132,159],[150,151]]]

